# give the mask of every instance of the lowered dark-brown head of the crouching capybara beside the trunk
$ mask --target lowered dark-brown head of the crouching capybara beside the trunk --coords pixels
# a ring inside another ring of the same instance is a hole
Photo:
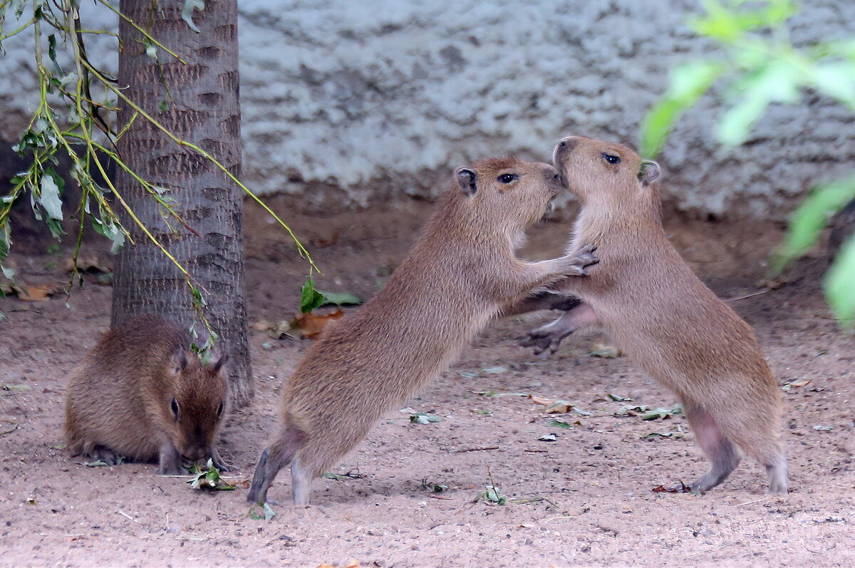
[[[167,431],[181,456],[198,461],[210,455],[228,411],[228,382],[221,373],[228,356],[203,364],[194,352],[177,350],[166,373],[174,391],[165,393]]]

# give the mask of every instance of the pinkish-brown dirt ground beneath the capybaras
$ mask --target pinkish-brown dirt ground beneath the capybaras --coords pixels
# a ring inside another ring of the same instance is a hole
[[[403,257],[427,210],[390,205],[298,217],[294,226],[325,272],[318,286],[365,297]],[[692,481],[705,459],[684,417],[616,413],[629,404],[670,408],[675,397],[625,358],[588,355],[608,343],[598,333],[534,357],[519,339],[551,317],[541,313],[492,324],[405,405],[411,411],[389,412],[333,470],[362,477],[319,479],[314,504],[295,509],[283,473],[270,492],[281,502],[276,516],[255,520],[243,486],[203,494],[156,476],[151,464],[86,467],[62,447],[65,375],[109,324],[111,289],[90,283],[69,308],[61,295],[0,299],[8,318],[0,322],[0,565],[855,565],[855,340],[823,304],[826,258],[817,252],[783,287],[738,299],[757,291],[779,228],[669,218],[693,269],[757,329],[784,389],[790,494],[766,495],[763,472],[748,460],[709,494],[654,493]],[[288,319],[306,266],[257,210],[246,226],[251,322]],[[568,228],[534,229],[528,257],[560,251]],[[27,284],[61,283],[67,255],[13,260]],[[252,332],[256,401],[233,414],[221,441],[240,468],[233,481],[251,476],[281,382],[308,343]],[[585,413],[547,415],[524,396],[481,392],[565,399]],[[410,423],[414,411],[440,421]],[[549,434],[555,441],[539,440]],[[491,477],[504,505],[478,499]]]

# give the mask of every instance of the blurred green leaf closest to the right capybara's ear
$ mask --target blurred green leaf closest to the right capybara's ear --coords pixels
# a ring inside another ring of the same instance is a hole
[[[671,72],[670,86],[641,121],[639,143],[642,157],[655,158],[665,144],[674,123],[698,102],[726,68],[719,62],[690,62]]]

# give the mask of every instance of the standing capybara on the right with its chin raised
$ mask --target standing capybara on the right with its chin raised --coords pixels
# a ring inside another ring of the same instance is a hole
[[[621,161],[607,163],[604,155]],[[705,491],[722,482],[739,463],[740,447],[765,466],[769,492],[786,492],[780,389],[752,328],[669,243],[653,183],[657,164],[627,146],[577,136],[556,147],[554,161],[581,201],[569,249],[592,243],[600,258],[588,278],[557,288],[583,299],[588,314],[581,319],[598,321],[631,359],[680,397],[712,462],[692,487]]]

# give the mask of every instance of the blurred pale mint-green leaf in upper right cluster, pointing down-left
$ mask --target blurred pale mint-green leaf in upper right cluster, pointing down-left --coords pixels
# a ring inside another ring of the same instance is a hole
[[[716,136],[724,145],[737,146],[748,139],[754,123],[772,103],[799,100],[801,71],[788,61],[773,60],[746,75],[735,85],[741,100],[728,109],[718,122]]]

